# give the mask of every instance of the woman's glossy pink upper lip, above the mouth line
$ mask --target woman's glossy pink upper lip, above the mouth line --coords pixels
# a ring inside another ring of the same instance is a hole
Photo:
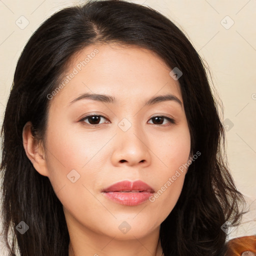
[[[102,192],[114,192],[114,191],[148,191],[154,193],[154,190],[151,186],[146,184],[141,180],[129,181],[123,180],[117,183],[114,183],[102,190]]]

